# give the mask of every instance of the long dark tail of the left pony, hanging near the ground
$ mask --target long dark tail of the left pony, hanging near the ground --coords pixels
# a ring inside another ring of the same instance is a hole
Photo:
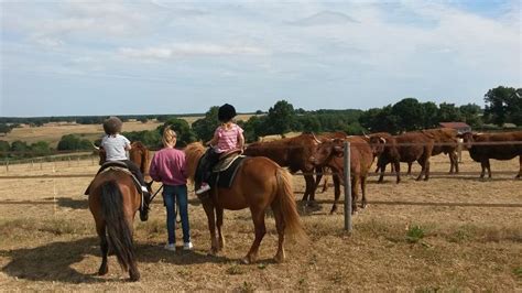
[[[116,181],[101,185],[100,200],[109,243],[115,250],[121,269],[129,271],[134,263],[134,246],[132,231],[123,213],[123,196]]]

